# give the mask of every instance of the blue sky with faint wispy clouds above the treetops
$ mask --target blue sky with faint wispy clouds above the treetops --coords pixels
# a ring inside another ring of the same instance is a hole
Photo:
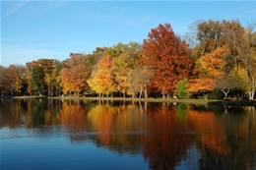
[[[1,1],[2,66],[69,58],[118,42],[143,42],[169,23],[182,35],[197,20],[256,21],[256,1]]]

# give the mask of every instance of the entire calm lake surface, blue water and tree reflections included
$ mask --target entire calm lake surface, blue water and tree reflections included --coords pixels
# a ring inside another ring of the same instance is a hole
[[[1,170],[256,169],[256,108],[0,101]]]

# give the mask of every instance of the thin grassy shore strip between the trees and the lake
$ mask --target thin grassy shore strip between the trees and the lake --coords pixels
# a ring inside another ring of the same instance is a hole
[[[171,98],[131,98],[131,97],[76,97],[76,96],[0,96],[0,99],[30,99],[30,98],[48,98],[48,99],[79,99],[79,100],[111,100],[111,101],[142,101],[142,102],[167,102],[167,103],[185,103],[185,104],[211,104],[211,105],[233,105],[233,106],[255,106],[256,100],[206,100],[206,99],[171,99]]]

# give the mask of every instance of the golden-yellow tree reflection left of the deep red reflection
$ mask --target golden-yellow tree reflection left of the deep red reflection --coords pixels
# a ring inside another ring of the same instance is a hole
[[[96,132],[97,145],[104,145],[118,153],[141,152],[144,117],[138,106],[109,104],[96,105],[88,113],[92,131]]]

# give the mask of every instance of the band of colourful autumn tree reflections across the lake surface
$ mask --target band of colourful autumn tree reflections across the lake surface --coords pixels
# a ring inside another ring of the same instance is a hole
[[[71,143],[143,155],[150,169],[256,168],[255,107],[46,99],[0,106],[1,129],[65,134]]]

